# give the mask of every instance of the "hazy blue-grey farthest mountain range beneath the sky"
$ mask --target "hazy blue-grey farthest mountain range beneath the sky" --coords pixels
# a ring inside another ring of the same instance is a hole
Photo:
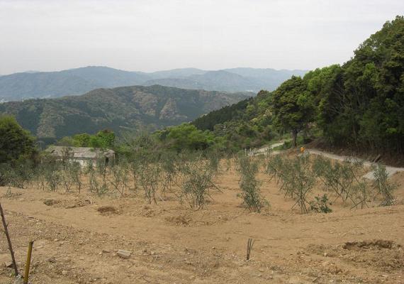
[[[101,66],[58,72],[20,72],[0,76],[0,102],[77,95],[99,88],[153,84],[182,89],[258,92],[260,89],[275,89],[292,75],[304,75],[305,72],[254,68],[217,71],[182,68],[146,73]]]

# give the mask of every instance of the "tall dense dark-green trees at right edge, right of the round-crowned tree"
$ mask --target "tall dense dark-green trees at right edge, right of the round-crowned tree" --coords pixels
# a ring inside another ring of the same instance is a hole
[[[386,22],[332,76],[322,129],[333,143],[403,153],[404,18]]]

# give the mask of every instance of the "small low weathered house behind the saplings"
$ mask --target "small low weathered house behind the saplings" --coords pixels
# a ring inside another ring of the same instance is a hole
[[[79,163],[82,167],[95,166],[100,160],[108,164],[115,159],[115,151],[101,148],[50,146],[45,151],[57,159]]]

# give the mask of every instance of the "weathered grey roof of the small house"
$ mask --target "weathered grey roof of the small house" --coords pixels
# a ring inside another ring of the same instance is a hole
[[[78,159],[111,158],[115,155],[115,152],[109,149],[89,147],[50,146],[45,151],[57,157]]]

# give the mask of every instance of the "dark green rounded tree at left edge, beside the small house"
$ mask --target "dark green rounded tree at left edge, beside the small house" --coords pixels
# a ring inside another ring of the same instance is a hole
[[[23,129],[13,116],[0,116],[0,163],[35,154],[35,138]]]

